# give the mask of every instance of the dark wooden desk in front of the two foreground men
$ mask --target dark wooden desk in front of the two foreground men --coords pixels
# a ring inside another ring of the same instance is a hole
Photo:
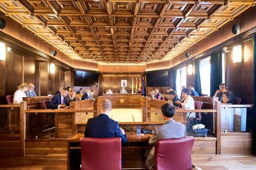
[[[139,155],[141,148],[150,149],[151,146],[148,144],[150,139],[150,134],[145,134],[144,136],[137,136],[136,132],[126,132],[127,134],[127,144],[122,145],[122,157],[124,158],[125,164],[129,164],[131,155]],[[67,138],[67,169],[80,169],[81,164],[81,148],[80,148],[80,139],[84,134],[77,133],[74,136]],[[139,152],[138,152],[139,150]],[[136,152],[136,153],[134,153]],[[111,154],[111,153],[109,153]],[[127,158],[126,158],[127,157]],[[134,158],[137,160],[137,158]],[[140,160],[139,160],[140,161]]]

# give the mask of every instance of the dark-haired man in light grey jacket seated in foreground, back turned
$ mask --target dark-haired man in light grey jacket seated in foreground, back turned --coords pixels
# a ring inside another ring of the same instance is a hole
[[[173,120],[175,115],[175,107],[169,103],[161,106],[164,124],[155,126],[153,135],[150,137],[148,143],[155,145],[158,139],[170,139],[186,137],[186,126]],[[148,169],[154,169],[155,166],[155,147],[153,147],[148,155],[146,166]]]

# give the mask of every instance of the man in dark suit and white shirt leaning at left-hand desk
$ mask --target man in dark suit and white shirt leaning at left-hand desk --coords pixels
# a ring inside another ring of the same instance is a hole
[[[67,88],[63,88],[60,94],[54,95],[51,102],[49,102],[49,108],[55,109],[69,106],[69,102],[65,98],[68,93]]]

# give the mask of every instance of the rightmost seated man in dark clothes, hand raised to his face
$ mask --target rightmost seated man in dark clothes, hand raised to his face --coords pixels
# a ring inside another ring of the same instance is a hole
[[[219,87],[220,87],[220,90],[217,90],[213,97],[218,97],[219,98],[218,100],[221,101],[221,103],[233,103],[234,101],[233,92],[228,91],[226,89],[225,83],[221,83]]]

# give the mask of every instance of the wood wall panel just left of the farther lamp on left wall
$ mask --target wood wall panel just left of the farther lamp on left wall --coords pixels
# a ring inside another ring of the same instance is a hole
[[[49,86],[51,85],[48,77],[48,62],[40,62],[40,95],[42,96],[53,94],[52,92],[49,92]]]

